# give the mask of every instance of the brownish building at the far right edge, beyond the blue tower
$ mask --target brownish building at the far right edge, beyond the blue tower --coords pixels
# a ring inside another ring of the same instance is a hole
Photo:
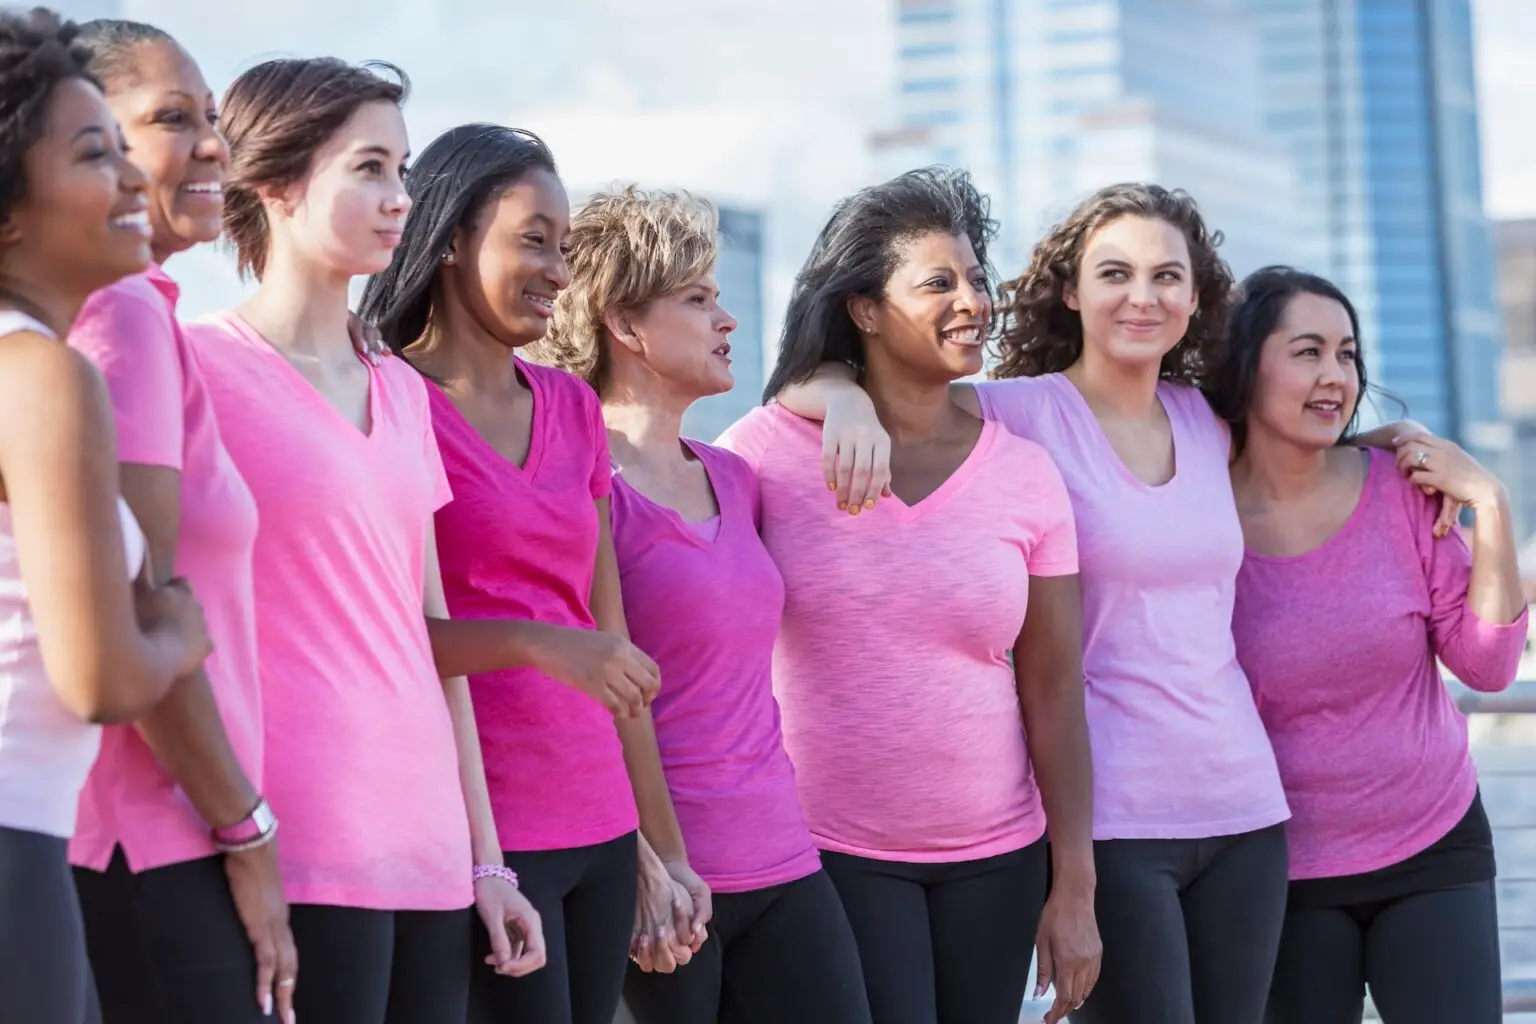
[[[1502,476],[1516,530],[1530,537],[1521,568],[1536,580],[1536,220],[1496,221],[1493,241],[1505,338],[1502,410],[1514,436]]]

